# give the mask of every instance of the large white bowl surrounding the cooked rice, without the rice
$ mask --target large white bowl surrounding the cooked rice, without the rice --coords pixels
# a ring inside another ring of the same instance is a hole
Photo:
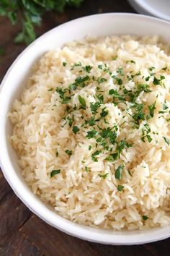
[[[138,14],[97,14],[83,17],[55,27],[45,35],[35,40],[18,56],[1,82],[0,93],[0,163],[6,180],[16,195],[27,205],[33,213],[61,231],[103,244],[143,244],[170,236],[170,226],[148,231],[111,231],[94,229],[72,223],[58,216],[50,206],[45,205],[39,197],[33,195],[30,187],[24,182],[17,156],[12,149],[8,135],[12,133],[12,126],[7,118],[14,98],[18,98],[27,77],[30,67],[42,54],[55,46],[63,46],[71,40],[84,38],[85,35],[155,35],[159,34],[166,41],[170,41],[170,23]]]

